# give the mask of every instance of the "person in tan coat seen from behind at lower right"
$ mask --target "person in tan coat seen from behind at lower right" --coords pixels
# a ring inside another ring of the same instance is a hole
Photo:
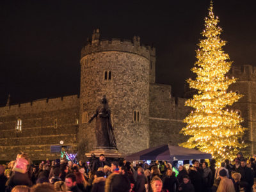
[[[236,192],[232,180],[227,177],[227,171],[222,169],[220,170],[219,175],[221,181],[217,192]]]

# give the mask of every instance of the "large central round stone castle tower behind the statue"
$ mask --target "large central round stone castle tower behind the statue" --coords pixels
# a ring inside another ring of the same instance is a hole
[[[155,49],[140,38],[100,40],[99,29],[81,51],[79,151],[95,147],[95,120],[88,124],[106,95],[119,152],[136,152],[149,143],[149,86],[155,81]]]

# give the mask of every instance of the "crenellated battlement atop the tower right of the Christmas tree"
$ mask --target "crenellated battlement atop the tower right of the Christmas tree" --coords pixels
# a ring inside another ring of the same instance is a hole
[[[238,78],[238,81],[256,81],[256,67],[252,65],[232,66],[228,76]]]

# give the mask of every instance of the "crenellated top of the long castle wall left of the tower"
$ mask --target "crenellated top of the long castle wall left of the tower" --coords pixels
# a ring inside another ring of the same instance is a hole
[[[67,109],[79,106],[77,95],[57,97],[52,99],[38,99],[31,102],[13,104],[0,108],[0,116],[19,115],[22,113],[38,113],[40,111],[54,111],[58,109]]]

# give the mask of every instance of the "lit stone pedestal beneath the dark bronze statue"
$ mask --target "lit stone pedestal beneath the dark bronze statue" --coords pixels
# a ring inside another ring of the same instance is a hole
[[[91,157],[91,154],[95,154],[96,157],[99,157],[100,154],[104,154],[105,157],[111,158],[120,158],[123,157],[118,150],[114,148],[96,148],[95,150],[91,150],[89,153],[86,153],[86,157]]]

